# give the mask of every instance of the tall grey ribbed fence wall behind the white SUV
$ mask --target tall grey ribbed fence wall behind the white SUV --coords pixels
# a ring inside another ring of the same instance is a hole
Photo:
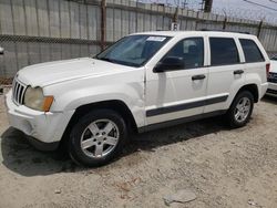
[[[106,0],[105,40],[112,43],[133,32],[170,30],[175,8]],[[243,31],[258,34],[259,22],[178,10],[181,30]],[[277,52],[277,27],[263,24],[259,39],[269,53]],[[99,0],[1,0],[0,77],[12,77],[29,64],[88,56],[101,51]]]

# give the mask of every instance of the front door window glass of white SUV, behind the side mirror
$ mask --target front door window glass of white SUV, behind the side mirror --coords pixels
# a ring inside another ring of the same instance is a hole
[[[188,38],[176,43],[164,56],[179,58],[184,61],[185,69],[202,67],[204,65],[203,38]]]

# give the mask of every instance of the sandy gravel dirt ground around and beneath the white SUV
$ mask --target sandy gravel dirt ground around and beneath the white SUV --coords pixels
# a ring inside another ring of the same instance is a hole
[[[277,100],[255,105],[250,123],[219,118],[135,136],[121,158],[82,168],[41,153],[9,127],[0,96],[0,208],[166,207],[189,189],[196,199],[171,207],[277,207]]]

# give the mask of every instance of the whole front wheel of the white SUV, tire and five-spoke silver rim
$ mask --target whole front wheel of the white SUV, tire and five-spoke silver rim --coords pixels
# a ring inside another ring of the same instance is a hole
[[[73,126],[69,154],[79,165],[106,165],[121,153],[126,138],[126,124],[120,114],[112,110],[95,110]]]

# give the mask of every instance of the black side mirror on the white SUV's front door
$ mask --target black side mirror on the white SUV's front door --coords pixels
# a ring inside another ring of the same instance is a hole
[[[158,62],[153,71],[160,73],[165,71],[183,70],[185,62],[183,58],[168,56]]]

